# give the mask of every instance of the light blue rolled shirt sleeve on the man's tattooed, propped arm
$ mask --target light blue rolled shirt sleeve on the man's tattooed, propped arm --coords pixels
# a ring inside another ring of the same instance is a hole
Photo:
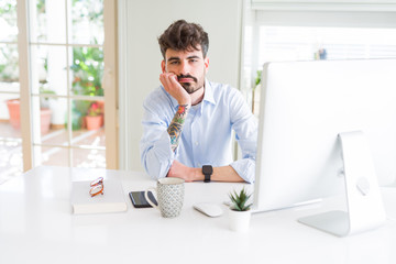
[[[175,153],[170,147],[170,138],[167,133],[168,121],[164,111],[153,109],[146,100],[143,103],[143,135],[140,142],[141,162],[146,173],[153,178],[166,177]]]

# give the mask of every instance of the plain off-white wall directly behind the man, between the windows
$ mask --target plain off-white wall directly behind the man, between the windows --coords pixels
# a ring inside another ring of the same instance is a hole
[[[239,88],[243,0],[120,0],[120,168],[143,170],[139,141],[144,98],[160,86],[157,37],[179,19],[209,34],[208,78]]]

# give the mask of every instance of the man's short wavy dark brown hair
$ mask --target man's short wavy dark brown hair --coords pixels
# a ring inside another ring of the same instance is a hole
[[[209,37],[201,25],[178,20],[169,25],[158,37],[161,53],[165,59],[166,50],[199,51],[201,46],[204,58],[209,50]]]

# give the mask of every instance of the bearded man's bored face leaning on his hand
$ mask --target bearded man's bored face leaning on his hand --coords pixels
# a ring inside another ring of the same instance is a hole
[[[204,58],[202,51],[166,50],[165,61],[162,62],[163,73],[173,73],[178,82],[188,94],[194,94],[205,85],[205,76],[209,67],[209,58]]]

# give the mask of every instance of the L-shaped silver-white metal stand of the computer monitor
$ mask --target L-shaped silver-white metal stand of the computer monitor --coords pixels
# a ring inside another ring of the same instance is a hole
[[[363,132],[340,133],[339,141],[344,163],[348,211],[329,211],[298,221],[338,237],[346,237],[382,226],[386,215]]]

